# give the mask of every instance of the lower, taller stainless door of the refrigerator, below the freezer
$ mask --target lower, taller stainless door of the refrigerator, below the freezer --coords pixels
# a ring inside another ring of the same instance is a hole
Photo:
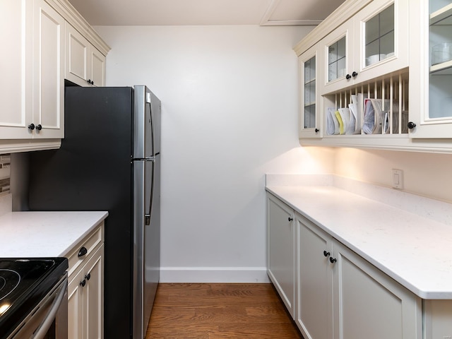
[[[144,338],[160,280],[160,156],[133,167],[133,338]]]

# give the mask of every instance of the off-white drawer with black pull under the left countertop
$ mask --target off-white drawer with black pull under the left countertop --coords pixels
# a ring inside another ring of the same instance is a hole
[[[85,237],[80,243],[73,248],[73,251],[69,253],[69,271],[68,275],[74,273],[83,261],[87,260],[99,244],[104,242],[104,222],[101,222],[99,226],[91,232],[88,237]],[[81,254],[79,256],[79,254]]]

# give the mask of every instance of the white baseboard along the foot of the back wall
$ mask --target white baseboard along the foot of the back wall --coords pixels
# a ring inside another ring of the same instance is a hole
[[[160,283],[270,283],[265,267],[161,267]]]

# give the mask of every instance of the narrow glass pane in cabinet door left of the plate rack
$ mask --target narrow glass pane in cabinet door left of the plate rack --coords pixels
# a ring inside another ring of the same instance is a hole
[[[316,127],[316,57],[304,62],[304,118],[303,128]]]

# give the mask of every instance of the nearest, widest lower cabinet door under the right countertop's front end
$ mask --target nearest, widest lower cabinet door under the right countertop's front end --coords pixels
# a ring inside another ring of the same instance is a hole
[[[335,339],[422,338],[421,301],[412,292],[333,242]]]

